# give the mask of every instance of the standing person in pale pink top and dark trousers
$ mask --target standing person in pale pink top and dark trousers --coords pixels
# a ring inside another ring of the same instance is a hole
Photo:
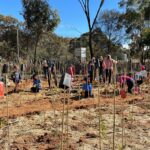
[[[103,61],[103,67],[105,69],[105,82],[111,83],[112,72],[113,72],[113,64],[117,63],[114,59],[111,58],[111,55],[107,55]]]

